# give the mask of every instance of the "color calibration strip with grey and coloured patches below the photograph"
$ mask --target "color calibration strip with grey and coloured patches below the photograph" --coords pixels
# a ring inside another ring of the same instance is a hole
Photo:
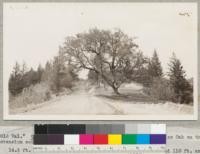
[[[34,131],[34,145],[166,144],[165,124],[50,124]]]

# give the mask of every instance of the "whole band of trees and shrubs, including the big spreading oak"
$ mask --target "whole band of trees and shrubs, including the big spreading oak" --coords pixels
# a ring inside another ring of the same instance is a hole
[[[133,39],[121,30],[90,29],[67,37],[58,55],[36,70],[16,62],[9,78],[11,106],[37,104],[52,96],[76,90],[79,72],[88,70],[91,86],[111,87],[115,95],[125,83],[140,83],[155,100],[193,103],[193,79],[186,78],[181,61],[172,53],[169,69],[163,73],[159,55],[143,55]]]

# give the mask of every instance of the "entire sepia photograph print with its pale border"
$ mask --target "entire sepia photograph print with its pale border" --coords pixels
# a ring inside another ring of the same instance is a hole
[[[196,3],[4,3],[6,120],[196,120]]]

